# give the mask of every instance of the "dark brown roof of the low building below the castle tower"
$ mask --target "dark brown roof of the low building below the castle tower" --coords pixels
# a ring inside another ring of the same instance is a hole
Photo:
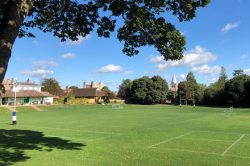
[[[102,97],[107,96],[106,92],[99,91],[97,88],[81,88],[74,89],[73,94],[75,97]]]

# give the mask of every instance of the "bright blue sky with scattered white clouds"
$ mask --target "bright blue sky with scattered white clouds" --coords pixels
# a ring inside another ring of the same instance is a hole
[[[183,81],[190,71],[199,83],[209,85],[218,79],[221,66],[229,78],[236,69],[250,75],[249,6],[249,0],[211,0],[189,22],[179,22],[167,14],[167,21],[186,37],[186,50],[180,61],[166,62],[149,46],[128,57],[115,32],[109,39],[93,32],[79,37],[77,42],[62,43],[51,33],[33,29],[36,38],[16,40],[5,78],[29,78],[36,83],[55,78],[63,88],[82,87],[84,81],[102,81],[116,91],[123,79],[160,75],[170,83],[174,74]]]

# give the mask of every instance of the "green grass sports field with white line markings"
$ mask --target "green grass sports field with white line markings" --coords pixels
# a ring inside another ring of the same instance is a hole
[[[0,108],[0,166],[250,165],[250,109],[41,108]]]

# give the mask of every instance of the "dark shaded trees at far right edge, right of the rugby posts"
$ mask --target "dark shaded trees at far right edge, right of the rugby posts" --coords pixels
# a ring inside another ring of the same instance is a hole
[[[203,104],[249,107],[250,76],[243,74],[242,70],[235,70],[233,75],[232,79],[227,80],[225,69],[222,68],[218,81],[205,90]]]

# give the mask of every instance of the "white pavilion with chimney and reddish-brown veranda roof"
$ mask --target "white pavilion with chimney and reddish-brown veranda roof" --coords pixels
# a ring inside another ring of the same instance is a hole
[[[16,95],[16,104],[53,104],[53,95],[48,92],[42,92],[41,85],[31,82],[16,82],[14,79],[3,81],[5,93],[0,95],[1,105],[13,105]],[[15,94],[16,92],[16,94]]]

